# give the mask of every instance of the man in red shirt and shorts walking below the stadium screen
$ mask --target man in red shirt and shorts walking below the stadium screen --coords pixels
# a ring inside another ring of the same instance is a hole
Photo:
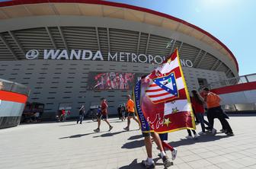
[[[111,129],[113,129],[113,126],[111,126],[107,120],[107,107],[107,100],[104,97],[101,98],[101,113],[98,114],[98,128],[94,129],[94,132],[100,132],[101,120],[104,120],[107,123],[109,126],[109,132]]]

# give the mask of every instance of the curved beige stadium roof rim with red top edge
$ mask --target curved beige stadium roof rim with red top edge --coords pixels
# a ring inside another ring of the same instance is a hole
[[[0,2],[0,22],[14,18],[50,15],[117,18],[126,21],[135,21],[137,23],[139,22],[143,24],[151,24],[167,30],[174,30],[189,37],[193,37],[202,43],[206,43],[211,48],[216,49],[216,51],[221,53],[223,56],[226,56],[229,62],[232,63],[236,69],[235,74],[238,73],[238,62],[236,61],[235,56],[227,48],[227,46],[220,42],[216,37],[213,37],[213,35],[206,32],[205,30],[200,29],[200,27],[197,27],[194,24],[187,23],[186,21],[174,18],[168,14],[163,14],[158,11],[152,11],[133,5],[123,5],[114,2],[104,2],[98,0],[23,0]],[[0,27],[0,33],[1,32],[7,32],[9,33],[10,37],[15,39],[15,35],[11,33],[11,30],[8,30],[8,26]],[[101,30],[99,30],[99,33],[101,33]],[[5,38],[5,34],[3,34],[0,37],[0,40],[5,43],[5,40],[8,40],[8,37]],[[195,56],[197,55],[203,54],[196,53]],[[218,64],[211,67],[216,68],[217,65]]]

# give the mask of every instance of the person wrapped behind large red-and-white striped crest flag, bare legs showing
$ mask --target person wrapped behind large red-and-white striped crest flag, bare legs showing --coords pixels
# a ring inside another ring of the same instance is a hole
[[[152,168],[155,166],[152,162],[152,142],[149,141],[151,133],[161,151],[165,167],[169,167],[171,162],[163,151],[157,133],[195,129],[190,97],[177,49],[150,75],[136,82],[134,97],[148,154],[147,160],[142,161],[142,164]]]

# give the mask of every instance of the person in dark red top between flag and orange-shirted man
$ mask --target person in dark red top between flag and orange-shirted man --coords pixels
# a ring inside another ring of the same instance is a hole
[[[194,115],[197,116],[197,119],[200,122],[202,132],[198,132],[199,135],[206,135],[205,125],[204,125],[204,107],[203,107],[203,97],[198,94],[196,90],[191,91],[192,97],[191,97],[191,104],[194,110]]]

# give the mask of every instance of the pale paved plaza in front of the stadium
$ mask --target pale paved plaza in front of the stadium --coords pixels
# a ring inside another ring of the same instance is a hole
[[[215,122],[219,131],[219,121]],[[114,118],[110,123],[111,132],[103,122],[98,133],[93,132],[97,123],[91,120],[1,129],[0,168],[143,168],[140,162],[146,149],[136,122],[132,120],[129,132],[123,131],[126,122]],[[168,142],[178,148],[178,157],[169,168],[256,168],[256,116],[230,116],[229,123],[235,136],[217,133],[187,140],[186,130],[171,132]],[[156,168],[163,168],[157,155],[154,144]]]

